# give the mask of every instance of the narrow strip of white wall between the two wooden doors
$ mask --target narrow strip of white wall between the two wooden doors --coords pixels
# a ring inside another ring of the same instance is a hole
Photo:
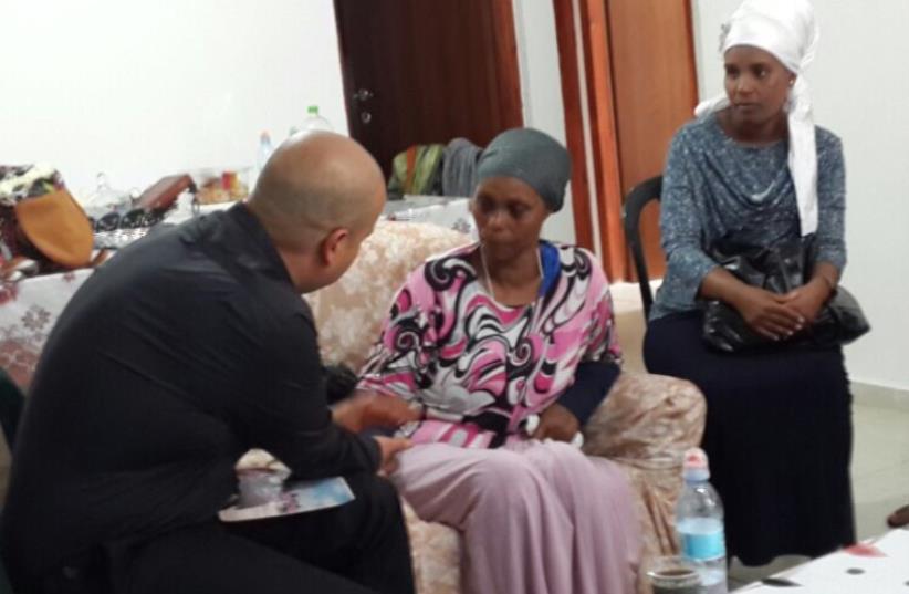
[[[513,0],[513,9],[524,125],[539,128],[564,144],[565,112],[553,3]],[[564,208],[546,220],[543,233],[550,239],[574,242],[571,191],[565,195]]]

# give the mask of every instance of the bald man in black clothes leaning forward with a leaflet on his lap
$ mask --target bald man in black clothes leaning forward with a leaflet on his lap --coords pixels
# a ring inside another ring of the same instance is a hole
[[[61,315],[15,444],[0,544],[17,592],[412,592],[398,498],[376,476],[405,440],[357,435],[404,406],[325,398],[312,314],[385,201],[342,136],[282,145],[252,197],[123,250]],[[217,520],[264,448],[356,499]]]

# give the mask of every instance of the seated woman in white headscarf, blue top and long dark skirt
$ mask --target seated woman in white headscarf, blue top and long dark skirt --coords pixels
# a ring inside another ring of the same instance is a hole
[[[846,263],[839,138],[815,127],[801,73],[817,28],[806,0],[746,0],[723,28],[727,96],[698,108],[669,150],[661,198],[668,268],[645,338],[651,373],[708,402],[703,446],[727,511],[730,555],[750,565],[855,539],[851,418],[839,347],[783,344],[811,326]],[[708,253],[815,235],[813,275],[790,294],[740,282]],[[779,347],[721,354],[699,299],[721,300]]]

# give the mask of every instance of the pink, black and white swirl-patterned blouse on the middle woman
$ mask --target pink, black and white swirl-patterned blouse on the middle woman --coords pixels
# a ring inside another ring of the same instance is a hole
[[[408,277],[362,373],[361,389],[422,407],[425,419],[403,428],[416,442],[522,439],[524,419],[572,385],[579,363],[620,361],[609,285],[591,252],[541,243],[541,294],[515,308],[478,280],[469,261],[477,249],[452,250]]]

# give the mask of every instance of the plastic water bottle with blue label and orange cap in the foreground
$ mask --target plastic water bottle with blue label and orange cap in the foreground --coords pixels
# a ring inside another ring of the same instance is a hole
[[[696,563],[704,594],[727,594],[723,504],[708,482],[710,469],[700,448],[685,452],[685,490],[676,506],[682,556]]]

